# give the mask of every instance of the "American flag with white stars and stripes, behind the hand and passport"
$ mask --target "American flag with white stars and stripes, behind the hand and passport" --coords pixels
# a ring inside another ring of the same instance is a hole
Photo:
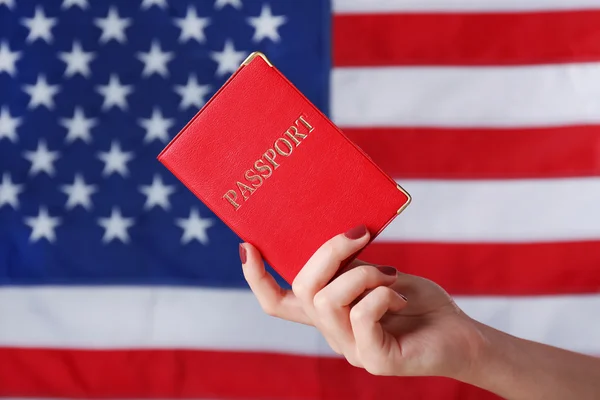
[[[0,396],[495,398],[266,316],[156,161],[255,50],[413,196],[362,258],[600,355],[598,0],[0,0]]]

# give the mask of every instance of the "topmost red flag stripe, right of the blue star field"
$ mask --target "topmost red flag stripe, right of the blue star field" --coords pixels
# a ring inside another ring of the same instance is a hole
[[[508,65],[600,60],[600,11],[336,15],[333,64]]]

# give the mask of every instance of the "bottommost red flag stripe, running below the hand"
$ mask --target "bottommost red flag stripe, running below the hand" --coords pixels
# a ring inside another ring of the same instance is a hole
[[[441,378],[377,377],[343,359],[210,351],[0,348],[0,396],[492,400]]]

